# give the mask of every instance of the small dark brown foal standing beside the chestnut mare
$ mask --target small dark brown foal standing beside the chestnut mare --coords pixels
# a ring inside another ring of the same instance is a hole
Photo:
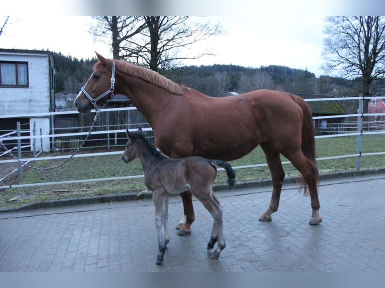
[[[170,194],[179,194],[186,189],[197,197],[214,219],[207,249],[214,248],[218,241],[217,248],[211,255],[212,259],[217,259],[226,243],[223,235],[223,208],[221,202],[213,194],[213,183],[217,176],[216,166],[221,166],[226,170],[227,183],[234,186],[235,173],[231,165],[222,160],[208,160],[198,156],[182,159],[166,158],[147,141],[141,128],[132,133],[127,129],[126,134],[129,140],[122,160],[129,163],[139,158],[144,170],[144,184],[152,191],[159,247],[156,264],[163,262],[164,252],[169,242],[168,200]]]

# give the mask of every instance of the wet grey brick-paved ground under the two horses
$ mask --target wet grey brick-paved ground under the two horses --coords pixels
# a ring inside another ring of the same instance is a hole
[[[179,237],[182,204],[173,197],[162,265],[150,199],[3,212],[0,271],[385,271],[384,187],[385,174],[321,181],[318,226],[293,184],[284,184],[271,222],[257,220],[269,187],[216,192],[227,244],[217,260],[206,250],[210,214],[195,201],[192,233]]]

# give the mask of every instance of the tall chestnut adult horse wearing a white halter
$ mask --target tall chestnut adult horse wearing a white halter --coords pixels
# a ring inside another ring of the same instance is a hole
[[[260,145],[273,181],[270,205],[260,221],[270,221],[278,209],[285,176],[282,154],[302,174],[304,193],[310,193],[309,224],[322,221],[312,110],[304,99],[272,90],[210,97],[147,68],[98,53],[97,57],[93,73],[76,96],[78,112],[103,105],[114,92],[124,94],[151,125],[157,148],[174,159],[201,156],[232,161]],[[191,192],[181,196],[186,219],[179,223],[178,235],[188,235],[195,220]]]

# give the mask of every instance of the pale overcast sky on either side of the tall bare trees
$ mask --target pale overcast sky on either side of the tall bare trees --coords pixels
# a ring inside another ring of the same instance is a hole
[[[236,19],[231,16],[204,17],[223,26],[222,36],[191,48],[197,52],[206,48],[215,55],[186,64],[235,64],[246,67],[282,65],[308,69],[322,74],[323,17],[274,18],[268,15]],[[47,25],[47,23],[50,23]],[[87,32],[90,17],[26,17],[12,16],[0,36],[1,48],[37,49],[61,52],[78,59],[95,56],[94,51],[112,57],[110,47],[95,42]]]

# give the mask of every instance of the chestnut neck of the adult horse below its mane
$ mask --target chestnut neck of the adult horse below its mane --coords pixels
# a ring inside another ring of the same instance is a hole
[[[180,96],[131,75],[123,74],[121,79],[124,83],[121,93],[130,98],[151,126],[157,121],[156,117],[166,109],[168,103]]]

